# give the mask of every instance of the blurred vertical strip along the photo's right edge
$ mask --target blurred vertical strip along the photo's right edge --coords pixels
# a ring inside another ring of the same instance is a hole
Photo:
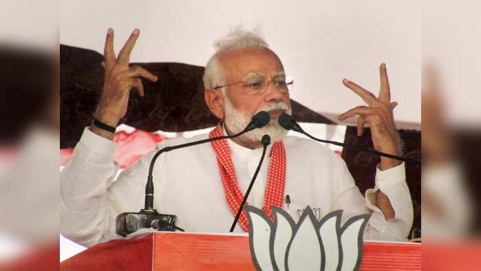
[[[423,1],[423,268],[480,266],[480,1]]]

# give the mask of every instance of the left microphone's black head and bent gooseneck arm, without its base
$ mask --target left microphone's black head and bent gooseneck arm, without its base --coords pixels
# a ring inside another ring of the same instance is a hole
[[[268,124],[269,121],[270,121],[269,113],[267,113],[266,111],[260,111],[259,113],[256,113],[253,116],[252,120],[249,122],[249,124],[247,125],[247,127],[243,131],[241,131],[239,133],[236,133],[235,135],[223,135],[223,136],[220,136],[220,137],[217,137],[217,138],[206,138],[204,140],[199,140],[199,141],[195,141],[195,142],[189,142],[189,143],[185,143],[185,144],[179,144],[179,145],[176,145],[176,146],[165,147],[165,148],[157,151],[157,153],[155,155],[153,155],[153,158],[150,162],[149,175],[147,177],[147,184],[145,186],[145,208],[142,209],[142,211],[148,212],[149,210],[154,210],[153,209],[153,176],[152,175],[153,175],[153,166],[156,163],[156,160],[159,157],[159,155],[161,155],[162,153],[166,153],[168,151],[173,151],[175,149],[182,149],[182,148],[185,148],[185,147],[190,147],[190,146],[194,146],[194,145],[198,145],[198,144],[204,144],[204,143],[212,142],[212,141],[216,141],[216,140],[223,140],[223,139],[227,139],[227,138],[236,138],[237,136],[243,135],[244,133],[247,133],[248,131],[252,131],[253,129],[257,129],[257,128],[261,128],[261,127],[266,126],[266,124]]]

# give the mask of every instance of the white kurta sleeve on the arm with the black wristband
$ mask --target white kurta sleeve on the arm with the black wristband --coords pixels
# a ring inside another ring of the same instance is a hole
[[[61,171],[61,234],[83,246],[121,238],[115,232],[117,215],[142,207],[153,153],[122,171],[116,180],[114,149],[113,141],[85,128],[72,159]]]

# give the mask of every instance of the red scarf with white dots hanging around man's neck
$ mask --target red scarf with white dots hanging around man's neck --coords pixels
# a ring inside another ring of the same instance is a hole
[[[222,128],[217,125],[209,134],[209,138],[222,136]],[[219,166],[220,178],[224,186],[224,193],[226,194],[226,201],[231,208],[233,215],[237,215],[237,210],[242,203],[244,194],[239,189],[237,178],[235,177],[234,164],[232,162],[231,149],[228,147],[226,140],[217,140],[211,142],[212,147],[217,157],[217,166]],[[284,188],[286,187],[286,150],[284,143],[277,141],[272,144],[270,151],[269,173],[267,177],[266,192],[264,195],[264,213],[274,219],[270,206],[282,208],[284,204]],[[246,202],[246,205],[248,203]],[[239,224],[248,231],[248,222],[245,210],[242,211],[239,217]]]

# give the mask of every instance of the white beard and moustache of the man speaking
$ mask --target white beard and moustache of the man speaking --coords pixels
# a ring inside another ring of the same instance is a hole
[[[266,105],[265,107],[261,107],[257,109],[252,116],[235,109],[231,103],[231,100],[229,100],[227,96],[224,96],[224,104],[224,124],[228,130],[234,134],[244,130],[252,117],[260,111],[269,112],[272,110],[285,110],[285,112],[289,115],[292,113],[292,109],[290,109],[284,102],[276,102]],[[279,140],[284,140],[287,133],[288,131],[281,127],[277,119],[271,119],[266,126],[259,129],[254,129],[248,133],[244,133],[244,135],[239,136],[239,139],[246,142],[261,142],[262,136],[267,134],[270,136],[270,142],[273,143]]]

